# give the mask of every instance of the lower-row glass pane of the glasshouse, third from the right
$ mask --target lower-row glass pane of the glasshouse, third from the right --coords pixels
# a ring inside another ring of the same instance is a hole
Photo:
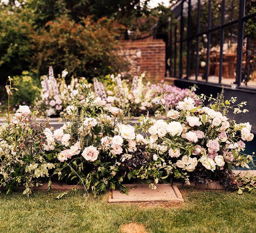
[[[220,30],[213,31],[210,36],[210,57],[208,82],[219,82],[220,70]]]

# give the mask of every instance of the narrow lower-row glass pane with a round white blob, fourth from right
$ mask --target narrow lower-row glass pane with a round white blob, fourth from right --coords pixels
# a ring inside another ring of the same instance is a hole
[[[207,36],[199,37],[199,63],[198,63],[198,81],[205,81],[206,78],[206,59],[207,59]]]

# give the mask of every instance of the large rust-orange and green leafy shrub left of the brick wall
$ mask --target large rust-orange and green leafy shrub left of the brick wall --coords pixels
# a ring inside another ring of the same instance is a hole
[[[65,67],[76,77],[93,78],[123,69],[124,61],[115,54],[120,25],[90,17],[75,23],[67,17],[48,22],[34,34],[36,50],[33,66],[44,74],[49,65],[57,73]]]

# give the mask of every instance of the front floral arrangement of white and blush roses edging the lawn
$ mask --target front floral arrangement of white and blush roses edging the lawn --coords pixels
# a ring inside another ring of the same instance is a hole
[[[10,99],[16,89],[9,81]],[[107,189],[128,194],[124,184],[134,181],[155,189],[174,180],[207,184],[219,179],[238,193],[255,192],[255,177],[232,173],[253,165],[252,156],[243,153],[244,141],[253,139],[250,123],[227,117],[231,111],[234,116],[247,112],[246,102],[224,100],[223,91],[216,99],[197,96],[194,89],[176,107],[159,101],[165,115],[141,115],[134,125],[125,95],[120,108],[108,108],[88,85],[60,113],[63,126],[55,130],[47,118],[37,121],[38,112],[28,106],[19,106],[15,114],[8,108],[0,126],[0,187],[12,192],[23,185],[29,195],[34,186],[48,180],[50,188],[57,180],[83,185],[96,196]]]

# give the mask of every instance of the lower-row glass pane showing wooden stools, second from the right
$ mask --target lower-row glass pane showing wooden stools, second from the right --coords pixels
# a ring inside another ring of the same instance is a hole
[[[238,24],[224,28],[223,62],[221,83],[231,84],[236,80]]]

